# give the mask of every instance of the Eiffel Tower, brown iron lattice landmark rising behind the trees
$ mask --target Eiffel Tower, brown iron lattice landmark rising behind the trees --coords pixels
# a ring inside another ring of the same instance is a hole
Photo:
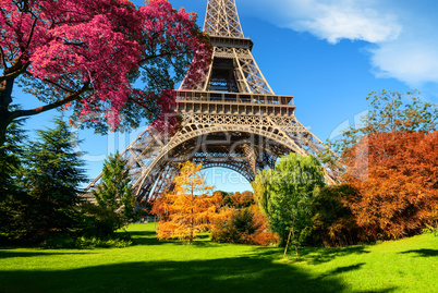
[[[265,80],[234,0],[208,0],[203,30],[214,47],[211,63],[200,83],[184,80],[177,90],[180,130],[170,135],[147,127],[121,152],[131,166],[138,204],[171,188],[178,162],[185,160],[204,169],[231,169],[251,182],[258,170],[275,168],[290,152],[336,156],[296,120],[293,97],[276,95]],[[336,174],[325,170],[333,183]]]

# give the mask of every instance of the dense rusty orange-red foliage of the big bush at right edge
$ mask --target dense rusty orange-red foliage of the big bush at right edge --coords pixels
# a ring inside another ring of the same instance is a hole
[[[346,154],[350,208],[374,239],[413,235],[438,220],[438,132],[376,133]]]

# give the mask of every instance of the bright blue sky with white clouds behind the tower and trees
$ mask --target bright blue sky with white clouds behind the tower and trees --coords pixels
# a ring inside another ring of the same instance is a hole
[[[133,1],[142,4],[142,1]],[[171,0],[198,14],[203,26],[207,0]],[[438,102],[438,2],[435,0],[236,0],[253,56],[276,94],[294,96],[296,118],[321,141],[367,110],[365,97],[381,89],[418,89]],[[19,88],[14,95],[32,107]],[[29,130],[50,126],[56,111],[28,120]],[[87,174],[95,178],[102,160],[124,149],[131,134],[95,135],[80,131]],[[218,190],[245,191],[236,173],[210,170]]]

